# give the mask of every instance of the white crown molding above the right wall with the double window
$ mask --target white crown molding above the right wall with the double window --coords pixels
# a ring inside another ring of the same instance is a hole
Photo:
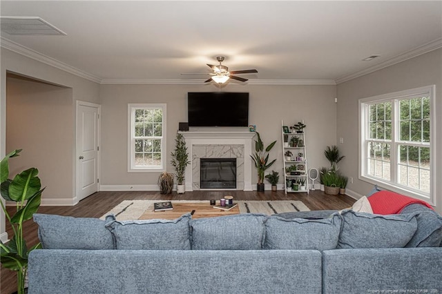
[[[402,61],[412,59],[414,57],[418,57],[419,55],[423,55],[427,52],[442,48],[442,38],[435,39],[430,41],[422,46],[416,47],[410,51],[406,51],[401,53],[400,55],[396,55],[396,57],[390,58],[386,61],[383,61],[375,66],[371,66],[369,68],[365,68],[365,70],[360,70],[358,72],[354,72],[351,75],[347,75],[345,77],[340,77],[336,79],[336,84],[344,83],[345,81],[349,81],[351,79],[356,79],[357,77],[362,77],[363,75],[368,75],[369,73],[375,72],[376,70],[381,70],[383,68],[387,68],[388,66],[393,66],[396,63],[400,63]]]

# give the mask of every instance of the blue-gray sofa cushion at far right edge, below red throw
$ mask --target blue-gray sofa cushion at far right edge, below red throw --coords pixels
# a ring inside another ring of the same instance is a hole
[[[442,217],[421,204],[410,204],[401,214],[417,213],[417,231],[406,247],[438,247],[442,242]]]

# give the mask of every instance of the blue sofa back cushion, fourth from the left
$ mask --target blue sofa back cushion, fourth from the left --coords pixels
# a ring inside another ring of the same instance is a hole
[[[272,215],[265,222],[265,249],[313,249],[323,251],[338,245],[341,217],[285,219]]]

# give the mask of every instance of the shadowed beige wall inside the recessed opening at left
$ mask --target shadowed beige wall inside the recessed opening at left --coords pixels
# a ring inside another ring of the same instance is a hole
[[[23,149],[10,175],[37,167],[44,200],[73,198],[72,89],[8,77],[6,95],[6,150]]]

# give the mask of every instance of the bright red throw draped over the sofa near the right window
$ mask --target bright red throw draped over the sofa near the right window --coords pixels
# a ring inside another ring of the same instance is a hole
[[[434,210],[432,206],[425,201],[387,190],[374,193],[372,196],[368,197],[368,201],[372,206],[373,213],[376,215],[394,215],[396,213],[401,213],[401,210],[403,210],[405,206],[416,203],[425,205]]]

